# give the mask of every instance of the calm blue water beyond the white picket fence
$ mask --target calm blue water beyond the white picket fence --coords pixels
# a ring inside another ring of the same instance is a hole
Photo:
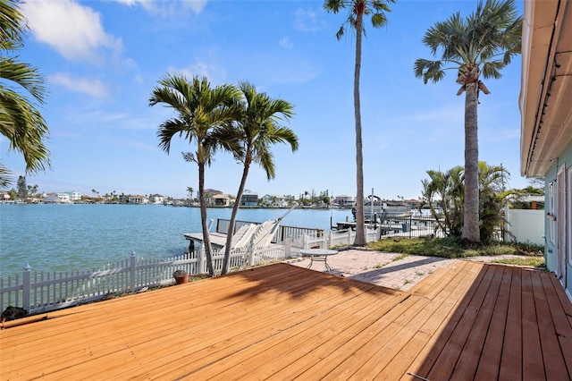
[[[240,209],[237,219],[263,222],[287,209]],[[230,219],[231,208],[209,208],[208,219]],[[351,220],[349,209],[295,209],[289,226],[330,229]],[[213,227],[214,230],[215,226]],[[198,207],[151,205],[0,205],[0,277],[32,271],[76,271],[128,258],[169,258],[189,247],[182,233],[201,232]]]

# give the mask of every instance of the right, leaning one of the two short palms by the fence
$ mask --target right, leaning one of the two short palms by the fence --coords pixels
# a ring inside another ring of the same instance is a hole
[[[224,250],[223,271],[229,271],[231,258],[231,242],[234,232],[234,223],[240,207],[240,199],[247,182],[248,170],[252,163],[257,163],[265,170],[270,181],[275,176],[273,154],[270,146],[275,143],[288,143],[292,152],[298,149],[298,137],[287,127],[278,124],[279,120],[289,120],[293,115],[290,103],[282,99],[273,99],[265,93],[257,93],[257,89],[248,82],[240,82],[239,89],[243,99],[240,101],[241,110],[238,125],[230,133],[238,133],[241,149],[234,152],[234,157],[243,165],[242,178],[236,195],[237,202],[232,207],[231,221],[226,236]]]

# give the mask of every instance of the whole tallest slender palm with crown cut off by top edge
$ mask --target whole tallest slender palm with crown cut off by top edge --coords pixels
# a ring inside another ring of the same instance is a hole
[[[345,23],[356,30],[356,66],[354,70],[354,114],[356,119],[356,241],[357,246],[366,244],[366,222],[364,220],[364,168],[361,138],[361,106],[359,101],[359,74],[361,71],[361,41],[366,34],[364,30],[364,16],[371,15],[372,26],[382,28],[387,24],[385,13],[391,12],[389,3],[395,0],[325,0],[324,9],[328,12],[339,13],[342,9],[349,8],[348,19]],[[336,38],[341,39],[345,33],[344,24],[336,33]]]

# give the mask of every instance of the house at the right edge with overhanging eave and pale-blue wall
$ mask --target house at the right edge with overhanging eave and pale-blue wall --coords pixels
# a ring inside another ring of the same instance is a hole
[[[572,300],[572,3],[525,2],[520,172],[545,182],[546,267]]]

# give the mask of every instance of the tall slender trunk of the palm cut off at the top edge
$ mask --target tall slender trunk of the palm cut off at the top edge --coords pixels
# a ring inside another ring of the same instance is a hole
[[[359,102],[359,73],[361,71],[361,39],[363,35],[363,11],[357,11],[356,18],[356,68],[354,72],[354,113],[356,117],[356,241],[354,245],[365,246],[366,237],[364,230],[364,158],[362,154],[363,143],[361,140],[361,106]]]

